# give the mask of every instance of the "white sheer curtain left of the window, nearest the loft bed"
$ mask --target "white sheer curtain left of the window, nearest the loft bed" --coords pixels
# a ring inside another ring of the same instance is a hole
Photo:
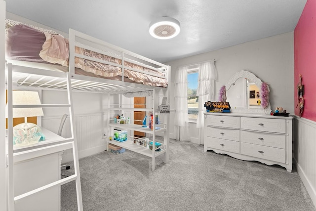
[[[187,93],[187,67],[177,69],[174,80],[176,139],[190,141]]]

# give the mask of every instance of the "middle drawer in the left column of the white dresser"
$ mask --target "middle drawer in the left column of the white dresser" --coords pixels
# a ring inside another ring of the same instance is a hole
[[[206,135],[213,138],[222,138],[232,141],[239,141],[240,130],[223,127],[206,127]]]

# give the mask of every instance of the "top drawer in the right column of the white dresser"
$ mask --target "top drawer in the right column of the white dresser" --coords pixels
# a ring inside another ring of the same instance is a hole
[[[265,132],[286,132],[285,119],[240,117],[240,128]]]

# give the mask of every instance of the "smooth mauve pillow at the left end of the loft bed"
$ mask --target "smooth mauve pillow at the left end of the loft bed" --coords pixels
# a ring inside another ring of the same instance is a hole
[[[11,26],[5,38],[7,59],[43,62],[40,51],[45,42],[44,33],[26,25]]]

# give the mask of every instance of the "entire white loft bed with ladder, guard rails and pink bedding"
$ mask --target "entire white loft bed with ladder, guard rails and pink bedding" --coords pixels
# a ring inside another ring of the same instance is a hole
[[[40,38],[40,39],[39,39]],[[12,89],[48,89],[48,90],[67,90],[69,105],[42,105],[42,107],[70,107],[71,125],[74,122],[74,113],[72,105],[72,91],[94,92],[110,94],[124,94],[128,96],[139,96],[146,92],[153,96],[153,108],[147,109],[152,113],[158,112],[158,93],[163,93],[169,99],[168,83],[170,79],[170,66],[161,64],[144,56],[122,49],[107,42],[85,35],[78,31],[69,30],[69,39],[58,35],[57,33],[41,29],[39,27],[19,23],[12,20],[6,20],[6,88],[8,89],[8,104],[12,100]],[[22,48],[21,48],[22,45]],[[57,52],[57,55],[54,54]],[[31,105],[31,107],[34,105]],[[18,108],[19,106],[15,107]],[[23,107],[23,106],[20,106]],[[30,107],[24,105],[24,107]],[[9,104],[9,109],[14,105]],[[121,105],[116,104],[108,106],[108,110],[124,110]],[[126,108],[127,109],[127,108]],[[133,110],[133,108],[128,108]],[[139,110],[139,109],[136,109]],[[9,112],[9,119],[12,113]],[[113,120],[109,118],[108,126],[113,129]],[[163,143],[158,150],[151,150],[151,153],[144,153],[134,146],[127,149],[152,157],[153,170],[155,169],[155,157],[164,156],[164,162],[169,160],[169,117],[166,118],[163,127]],[[12,125],[12,120],[8,121]],[[73,126],[71,126],[72,129]],[[121,126],[120,126],[121,128]],[[154,123],[154,128],[155,123]],[[129,130],[138,130],[138,127],[129,126]],[[155,145],[155,129],[147,131],[140,128],[140,131],[148,132],[153,135],[153,145]],[[12,133],[12,128],[8,129]],[[73,133],[74,161],[78,165],[78,152],[76,145],[76,134]],[[133,134],[133,133],[132,133]],[[8,139],[10,139],[8,135]],[[67,141],[67,140],[66,140]],[[66,143],[61,140],[61,144]],[[113,144],[115,144],[112,141]],[[67,147],[70,144],[67,142]],[[121,143],[117,144],[122,146]],[[45,146],[45,145],[42,145]],[[52,144],[47,145],[51,147]],[[38,148],[41,146],[39,145]],[[46,147],[46,146],[45,146]],[[38,148],[31,148],[34,151]],[[62,148],[59,147],[59,150]],[[65,148],[66,149],[66,148]],[[154,148],[155,149],[155,148]],[[27,149],[26,149],[27,150]],[[150,151],[148,149],[147,151]],[[14,149],[12,144],[8,144],[9,166],[13,165],[13,157],[17,153],[26,151]],[[75,165],[76,166],[76,165]],[[76,168],[76,167],[75,167]],[[61,185],[66,182],[79,179],[78,174],[72,178],[61,179],[51,184],[45,185],[45,188]],[[13,174],[13,169],[9,170]],[[9,173],[10,174],[10,173]],[[80,183],[80,180],[79,180]],[[12,190],[12,180],[9,181],[9,190]],[[78,190],[79,189],[79,190]],[[12,191],[8,194],[9,207],[14,210],[14,201],[23,197],[32,195],[33,192],[39,192],[42,188],[29,191],[25,195],[13,196]],[[82,209],[82,200],[80,195],[80,185],[77,185],[78,210]],[[11,205],[11,206],[10,206]],[[12,209],[9,209],[12,210]]]

